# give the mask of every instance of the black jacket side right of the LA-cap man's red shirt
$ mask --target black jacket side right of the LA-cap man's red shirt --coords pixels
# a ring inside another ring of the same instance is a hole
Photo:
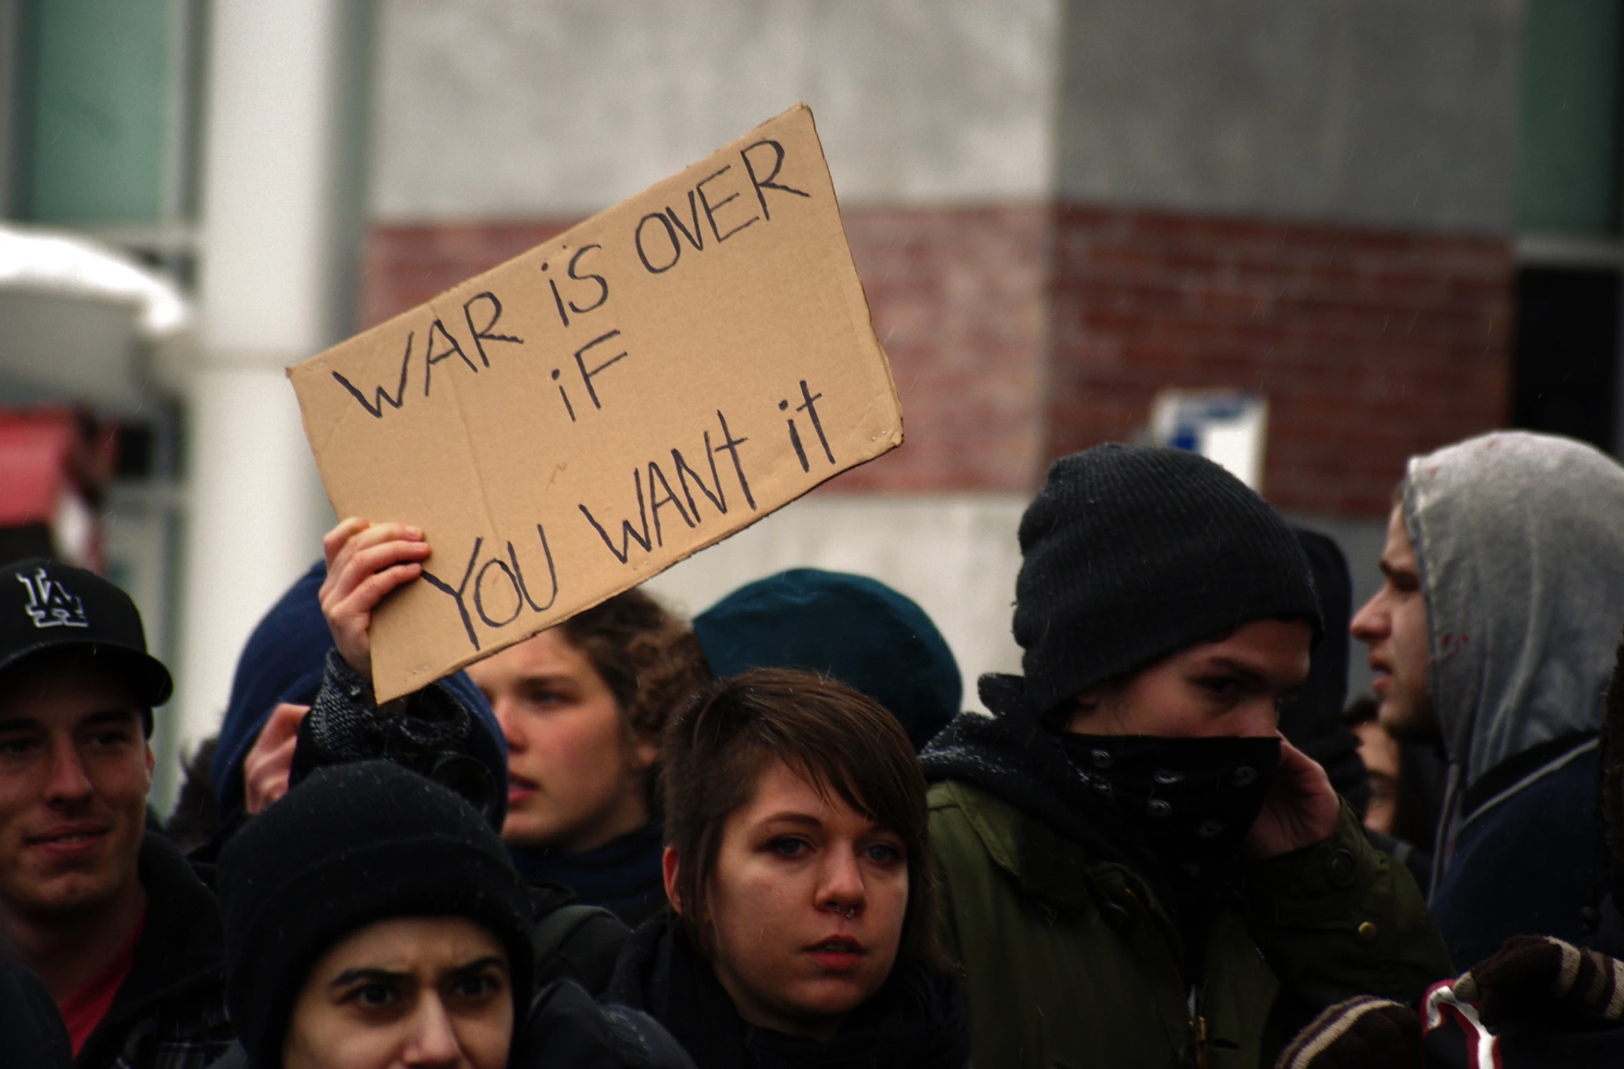
[[[141,842],[136,872],[146,890],[146,923],[135,942],[130,975],[75,1058],[81,1067],[110,1064],[130,1030],[154,1015],[197,1017],[195,1024],[205,1030],[224,1025],[214,895],[192,874],[174,843],[156,832]]]

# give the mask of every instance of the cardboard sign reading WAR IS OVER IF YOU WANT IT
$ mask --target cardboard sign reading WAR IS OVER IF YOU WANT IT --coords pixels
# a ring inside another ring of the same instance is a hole
[[[432,551],[380,702],[903,440],[804,106],[287,375],[333,510]]]

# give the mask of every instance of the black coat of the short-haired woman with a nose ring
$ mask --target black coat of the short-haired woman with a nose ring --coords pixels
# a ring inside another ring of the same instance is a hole
[[[958,981],[898,963],[828,1043],[747,1024],[676,918],[643,923],[620,952],[606,1002],[650,1014],[698,1069],[963,1069],[970,1014]]]

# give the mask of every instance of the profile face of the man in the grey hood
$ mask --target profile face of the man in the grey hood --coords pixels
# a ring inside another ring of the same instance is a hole
[[[1405,530],[1403,505],[1387,520],[1382,547],[1382,588],[1364,603],[1348,627],[1371,648],[1371,689],[1380,702],[1379,718],[1395,739],[1439,742],[1437,716],[1426,690],[1426,601],[1416,554]]]

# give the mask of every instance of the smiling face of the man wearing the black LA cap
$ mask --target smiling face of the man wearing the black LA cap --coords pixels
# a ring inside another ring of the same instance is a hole
[[[0,910],[93,908],[136,879],[153,754],[106,664],[45,658],[0,684]]]

